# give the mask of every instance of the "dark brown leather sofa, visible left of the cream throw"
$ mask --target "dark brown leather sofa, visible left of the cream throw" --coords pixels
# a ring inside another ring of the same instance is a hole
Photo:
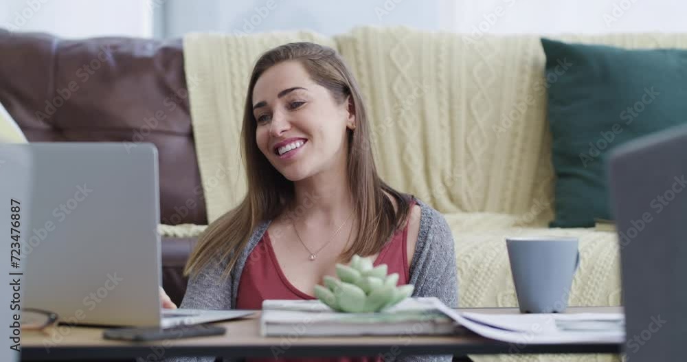
[[[87,38],[0,29],[0,102],[30,142],[152,142],[161,223],[207,224],[181,39]],[[163,286],[179,304],[194,238],[163,238]]]

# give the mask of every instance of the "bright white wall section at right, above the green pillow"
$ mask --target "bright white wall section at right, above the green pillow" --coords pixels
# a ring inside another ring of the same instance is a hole
[[[687,32],[678,0],[458,1],[453,31],[484,34]]]

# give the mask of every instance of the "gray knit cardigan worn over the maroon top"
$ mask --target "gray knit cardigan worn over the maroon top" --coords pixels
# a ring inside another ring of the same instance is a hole
[[[455,267],[453,234],[446,219],[432,207],[416,199],[420,209],[420,231],[410,264],[409,284],[415,286],[416,297],[438,297],[444,304],[458,306],[458,278]],[[270,221],[261,223],[251,235],[247,247],[229,273],[222,280],[225,264],[206,267],[194,278],[190,278],[180,308],[226,310],[236,306],[238,281],[248,256],[262,238]],[[165,361],[192,362],[213,361],[214,357],[183,357]],[[405,357],[403,361],[451,361],[451,356]]]

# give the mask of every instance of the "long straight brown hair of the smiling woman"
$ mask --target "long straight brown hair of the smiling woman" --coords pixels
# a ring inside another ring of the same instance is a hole
[[[330,47],[314,43],[280,45],[258,58],[246,92],[241,151],[248,181],[247,195],[237,207],[215,220],[201,234],[184,275],[196,275],[211,262],[220,260],[228,260],[224,276],[229,275],[254,229],[263,221],[279,216],[295,200],[293,182],[280,174],[258,149],[253,115],[253,89],[258,78],[273,65],[287,60],[296,60],[303,65],[313,81],[328,89],[338,104],[346,102],[350,96],[354,107],[355,129],[347,128],[346,131],[347,173],[359,228],[352,245],[343,251],[339,260],[347,262],[355,254],[368,256],[379,252],[409,215],[409,196],[391,188],[377,174],[365,106],[357,82],[341,56]],[[397,210],[384,192],[395,199]]]

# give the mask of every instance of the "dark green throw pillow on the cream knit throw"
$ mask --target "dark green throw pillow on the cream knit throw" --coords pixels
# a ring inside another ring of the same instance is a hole
[[[687,123],[687,50],[542,38],[556,172],[551,227],[610,218],[606,158],[631,139]]]

